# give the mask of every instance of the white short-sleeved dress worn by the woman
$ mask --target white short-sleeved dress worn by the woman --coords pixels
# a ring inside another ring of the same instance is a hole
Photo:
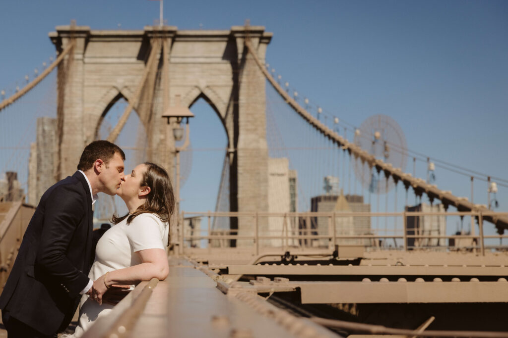
[[[168,223],[156,215],[143,213],[127,224],[127,217],[111,227],[97,243],[96,258],[88,277],[96,280],[108,271],[141,264],[135,252],[145,249],[165,249],[168,242]],[[131,287],[133,288],[133,286]],[[99,305],[84,294],[80,301],[79,321],[75,337],[80,337],[98,317],[107,315],[113,305]]]

